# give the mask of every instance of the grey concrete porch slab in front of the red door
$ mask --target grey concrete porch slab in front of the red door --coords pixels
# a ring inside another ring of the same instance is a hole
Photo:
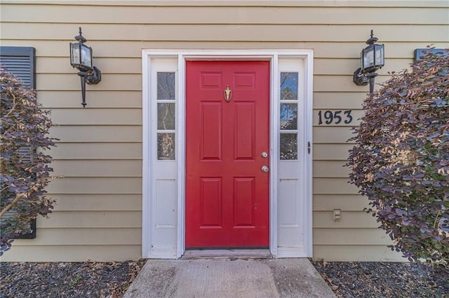
[[[123,297],[335,297],[305,258],[148,260]]]

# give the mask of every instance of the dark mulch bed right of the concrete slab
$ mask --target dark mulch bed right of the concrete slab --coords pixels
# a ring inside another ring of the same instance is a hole
[[[337,297],[449,297],[449,270],[395,262],[312,262]]]

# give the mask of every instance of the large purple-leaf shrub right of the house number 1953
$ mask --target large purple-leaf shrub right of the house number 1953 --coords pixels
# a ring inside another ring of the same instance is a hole
[[[363,102],[351,183],[412,262],[449,266],[449,57],[427,54]]]

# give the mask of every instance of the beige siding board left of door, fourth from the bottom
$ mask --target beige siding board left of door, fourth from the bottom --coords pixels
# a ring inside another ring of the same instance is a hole
[[[55,194],[55,211],[142,211],[141,194]]]

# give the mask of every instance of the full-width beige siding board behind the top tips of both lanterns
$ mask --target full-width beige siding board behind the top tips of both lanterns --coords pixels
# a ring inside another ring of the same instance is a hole
[[[78,24],[3,23],[6,39],[39,39],[70,41],[68,32]],[[91,41],[352,41],[366,40],[372,25],[320,24],[83,24]],[[342,32],[345,32],[344,39]],[[413,31],[413,34],[410,34]],[[51,34],[48,34],[51,32]],[[293,34],[292,34],[293,32]],[[447,42],[449,25],[377,24],[376,35],[381,42]],[[369,36],[368,36],[369,37]]]

